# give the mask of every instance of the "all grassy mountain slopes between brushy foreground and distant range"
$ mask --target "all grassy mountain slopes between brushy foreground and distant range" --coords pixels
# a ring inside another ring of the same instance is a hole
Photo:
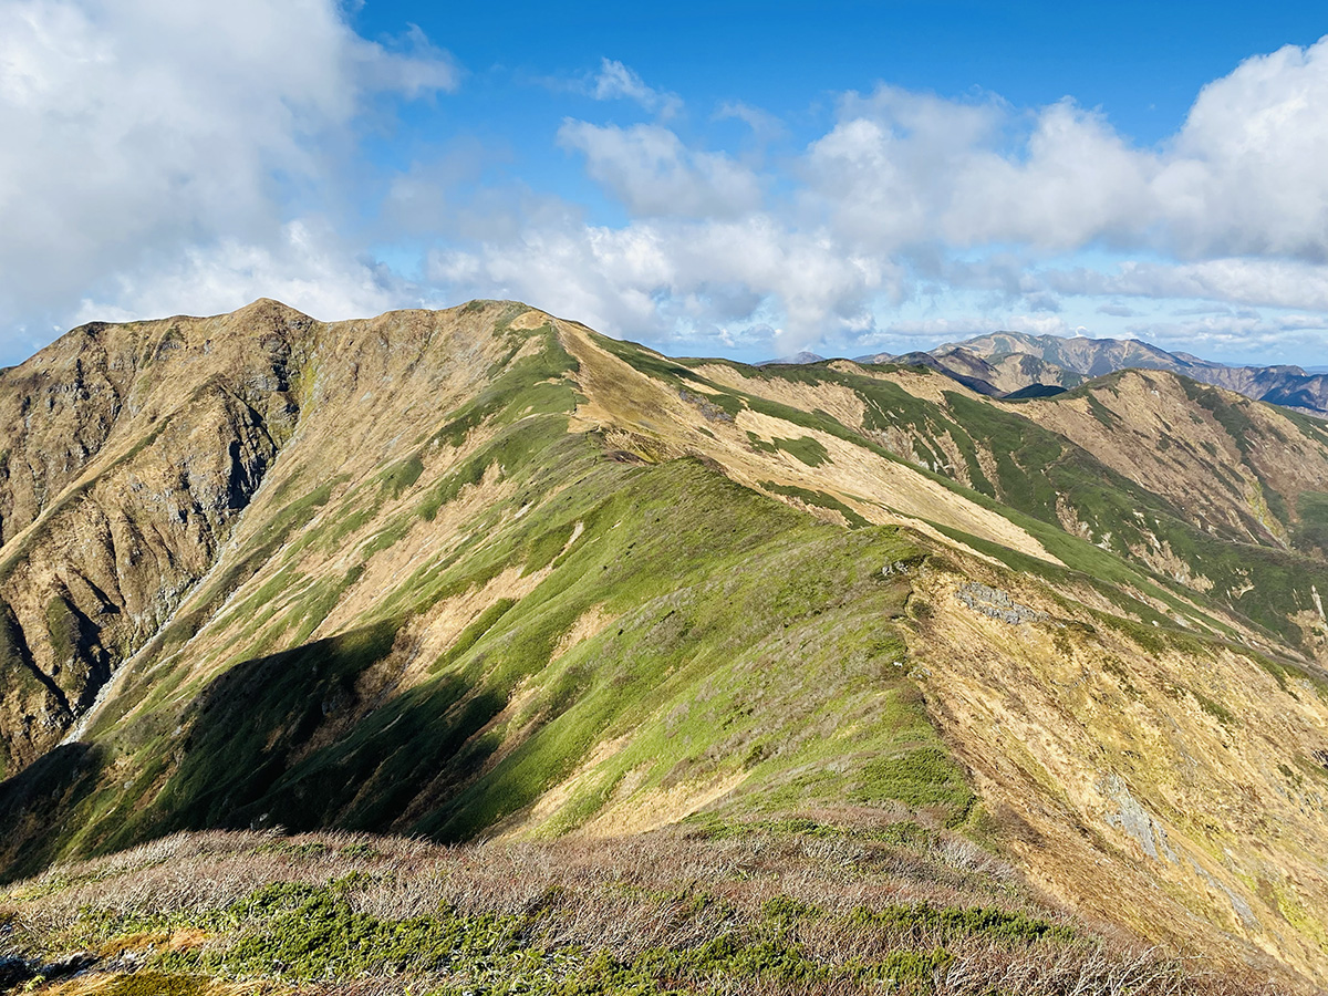
[[[1000,402],[669,360],[494,301],[101,327],[15,393],[62,397],[98,349],[97,397],[137,400],[50,408],[94,426],[82,463],[33,456],[40,420],[11,444],[11,878],[175,830],[817,813],[1328,979],[1308,420],[1167,373]]]

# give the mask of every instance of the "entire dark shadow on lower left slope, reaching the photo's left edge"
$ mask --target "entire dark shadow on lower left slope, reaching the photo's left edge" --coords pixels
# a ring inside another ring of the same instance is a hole
[[[0,879],[41,870],[76,841],[96,854],[177,830],[409,829],[478,773],[498,741],[474,734],[506,699],[454,675],[397,693],[397,625],[231,667],[174,733],[138,720],[118,744],[127,765],[72,744],[0,782]]]

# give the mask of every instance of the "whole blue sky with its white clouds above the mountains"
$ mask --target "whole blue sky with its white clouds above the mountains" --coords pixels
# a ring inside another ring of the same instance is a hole
[[[672,353],[1328,363],[1313,4],[0,0],[0,363],[519,297]]]

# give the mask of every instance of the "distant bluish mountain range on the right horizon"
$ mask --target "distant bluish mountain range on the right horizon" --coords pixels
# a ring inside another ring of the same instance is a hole
[[[799,353],[799,356],[802,356]],[[797,357],[776,363],[802,363]],[[875,353],[858,363],[931,367],[988,397],[1042,396],[1045,388],[1076,388],[1127,368],[1170,371],[1256,401],[1328,417],[1328,368],[1228,367],[1190,353],[1171,353],[1134,339],[1065,339],[992,332],[927,352]]]

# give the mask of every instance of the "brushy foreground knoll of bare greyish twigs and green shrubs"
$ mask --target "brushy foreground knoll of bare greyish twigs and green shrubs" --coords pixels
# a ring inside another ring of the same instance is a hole
[[[32,963],[100,959],[37,988],[69,996],[1274,992],[1088,930],[911,822],[467,847],[178,834],[19,883],[0,923]]]

